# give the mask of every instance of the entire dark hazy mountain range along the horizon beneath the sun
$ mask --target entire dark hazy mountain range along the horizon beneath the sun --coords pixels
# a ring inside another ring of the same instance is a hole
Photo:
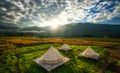
[[[0,27],[4,30],[16,31],[44,31],[36,33],[40,37],[120,37],[120,25],[104,25],[104,24],[90,24],[90,23],[72,23],[59,26],[54,30],[51,27]],[[13,32],[14,32],[13,31]],[[16,32],[15,31],[15,32]]]

